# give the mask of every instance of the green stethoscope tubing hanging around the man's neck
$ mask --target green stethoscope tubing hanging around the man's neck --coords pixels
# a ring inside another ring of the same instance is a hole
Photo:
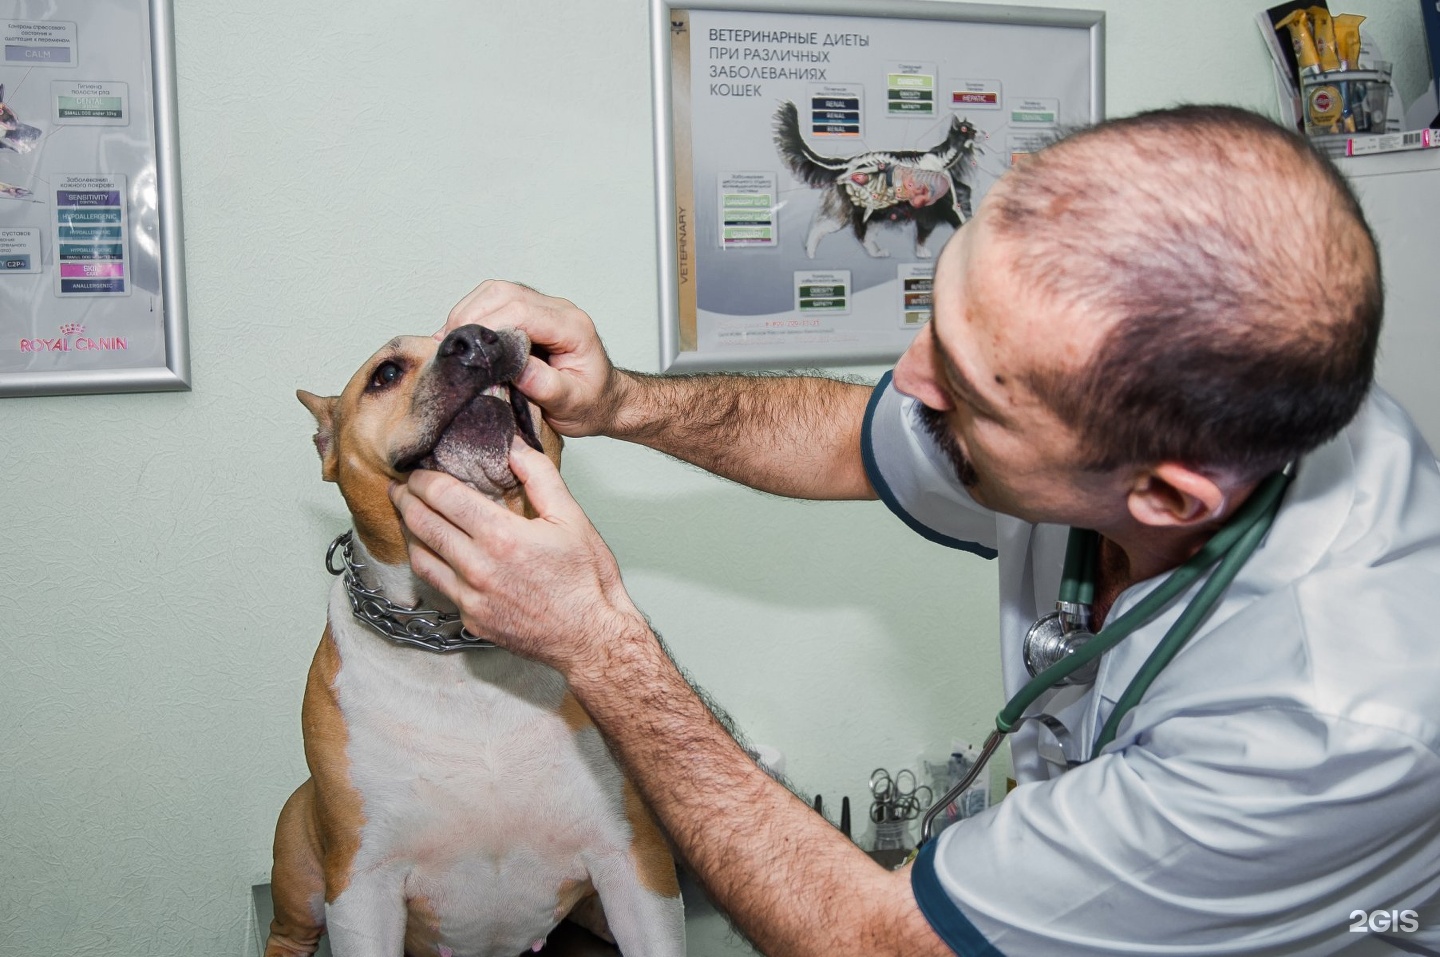
[[[924,822],[920,829],[922,843],[930,836],[930,825],[935,820],[935,815],[940,809],[949,806],[955,802],[959,794],[971,786],[979,770],[994,754],[995,748],[999,747],[1001,740],[1014,731],[1021,721],[1025,720],[1025,709],[1035,702],[1040,695],[1045,694],[1056,685],[1058,685],[1064,678],[1076,671],[1080,671],[1087,663],[1106,653],[1122,640],[1129,638],[1136,629],[1146,625],[1151,619],[1159,614],[1171,602],[1174,602],[1179,594],[1189,589],[1202,574],[1214,567],[1214,573],[1201,586],[1200,591],[1189,602],[1175,623],[1171,625],[1169,630],[1161,639],[1155,650],[1151,652],[1145,663],[1130,679],[1130,684],[1125,688],[1125,692],[1115,702],[1115,709],[1106,720],[1104,725],[1100,728],[1100,734],[1096,738],[1094,747],[1090,751],[1090,757],[1094,758],[1104,750],[1107,744],[1115,740],[1116,730],[1120,727],[1120,721],[1126,714],[1139,704],[1140,698],[1149,689],[1155,678],[1165,669],[1165,666],[1179,653],[1179,649],[1200,630],[1200,625],[1205,620],[1210,612],[1220,602],[1220,597],[1230,587],[1230,583],[1236,580],[1240,574],[1240,568],[1250,560],[1254,550],[1260,547],[1264,540],[1266,532],[1270,531],[1270,525],[1274,524],[1274,517],[1280,511],[1280,499],[1284,495],[1286,486],[1290,484],[1293,469],[1286,468],[1282,472],[1270,475],[1256,494],[1251,495],[1237,511],[1230,517],[1230,521],[1211,535],[1200,551],[1197,551],[1185,564],[1175,568],[1165,581],[1159,584],[1148,596],[1136,602],[1135,607],[1115,619],[1103,629],[1100,633],[1081,645],[1077,650],[1066,655],[1061,661],[1056,662],[1050,668],[1044,669],[1034,678],[1031,678],[1024,688],[1021,688],[1015,697],[1012,697],[1005,707],[1001,708],[999,714],[995,715],[995,731],[986,738],[984,748],[981,750],[981,757],[971,767],[971,773],[965,776],[965,780],[959,781],[950,789],[940,800],[930,807],[930,812],[924,816]],[[1096,544],[1099,535],[1087,528],[1071,528],[1070,540],[1066,545],[1066,564],[1061,571],[1060,583],[1060,600],[1061,602],[1076,602],[1080,604],[1090,604],[1094,600],[1094,561],[1096,561]]]

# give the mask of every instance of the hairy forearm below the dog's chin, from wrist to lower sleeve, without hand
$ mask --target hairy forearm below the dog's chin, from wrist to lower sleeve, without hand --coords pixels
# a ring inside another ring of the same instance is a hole
[[[770,957],[948,954],[906,874],[770,779],[626,620],[570,685],[716,902]],[[624,676],[619,681],[618,676]]]

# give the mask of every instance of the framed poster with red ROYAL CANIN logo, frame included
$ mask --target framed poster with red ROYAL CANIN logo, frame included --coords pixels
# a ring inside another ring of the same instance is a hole
[[[0,396],[190,387],[168,0],[0,0]]]

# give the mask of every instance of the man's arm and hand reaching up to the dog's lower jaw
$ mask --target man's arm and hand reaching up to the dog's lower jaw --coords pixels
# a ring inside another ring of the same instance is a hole
[[[880,868],[772,780],[696,695],[550,461],[516,443],[511,468],[533,520],[438,472],[393,486],[415,571],[467,627],[566,676],[700,881],[766,954],[949,954],[909,874]]]

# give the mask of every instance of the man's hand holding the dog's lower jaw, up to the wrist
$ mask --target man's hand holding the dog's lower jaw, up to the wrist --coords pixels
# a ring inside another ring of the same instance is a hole
[[[554,465],[517,440],[510,466],[537,518],[442,472],[415,471],[392,486],[410,567],[455,603],[472,633],[567,678],[602,668],[608,639],[644,617]]]

